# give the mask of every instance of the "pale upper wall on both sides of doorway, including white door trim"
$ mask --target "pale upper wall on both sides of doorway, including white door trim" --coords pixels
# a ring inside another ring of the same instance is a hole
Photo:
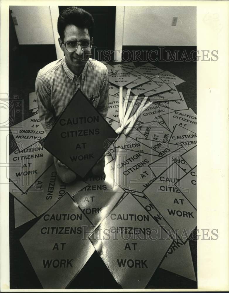
[[[58,41],[58,6],[10,6],[10,9],[12,16],[18,19],[19,25],[15,29],[20,45],[55,44],[54,35]],[[116,31],[115,50],[122,50],[122,45],[196,45],[195,6],[117,6],[116,14],[116,28],[119,29]],[[172,17],[178,17],[176,26],[171,25]],[[63,52],[58,43],[55,45],[59,59]],[[121,61],[120,55],[117,61]]]

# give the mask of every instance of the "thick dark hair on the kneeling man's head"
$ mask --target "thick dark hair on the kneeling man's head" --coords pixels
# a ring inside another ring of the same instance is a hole
[[[64,30],[66,25],[75,25],[78,28],[87,28],[90,38],[93,36],[94,19],[92,15],[75,6],[64,9],[58,17],[57,31],[61,40],[64,40]]]

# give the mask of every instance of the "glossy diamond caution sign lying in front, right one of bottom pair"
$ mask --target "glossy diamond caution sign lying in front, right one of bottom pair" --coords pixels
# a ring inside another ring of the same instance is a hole
[[[145,288],[172,243],[163,233],[129,193],[89,239],[124,289]]]

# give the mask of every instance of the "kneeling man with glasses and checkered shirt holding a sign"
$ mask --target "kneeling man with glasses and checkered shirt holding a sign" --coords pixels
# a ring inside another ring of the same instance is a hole
[[[65,56],[40,69],[35,83],[40,121],[47,133],[78,88],[106,118],[109,91],[107,68],[89,58],[93,26],[92,15],[78,7],[66,8],[58,18],[59,45]],[[76,179],[76,174],[55,157],[54,163],[62,181],[70,183]],[[104,166],[103,156],[92,168],[92,174],[102,174]]]

